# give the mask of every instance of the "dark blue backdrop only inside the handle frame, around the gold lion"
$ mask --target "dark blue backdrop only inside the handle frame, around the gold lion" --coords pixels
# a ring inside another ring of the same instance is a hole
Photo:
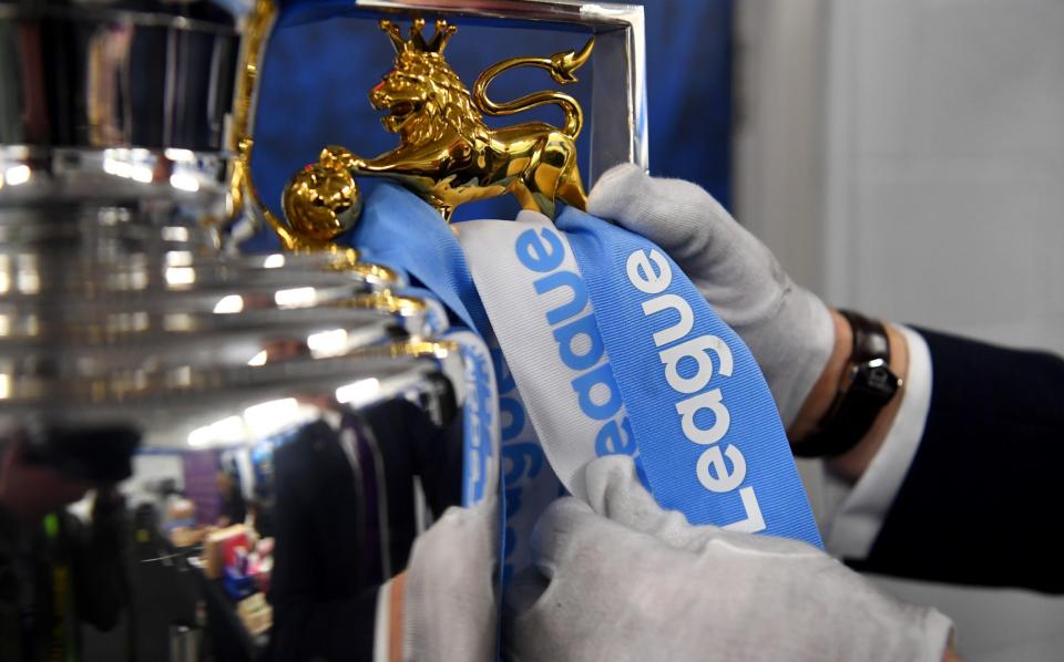
[[[397,21],[406,33],[409,22]],[[426,28],[431,34],[432,27]],[[521,30],[491,27],[488,23],[459,23],[448,43],[448,63],[467,86],[481,71],[499,60],[519,55],[550,55],[580,49],[587,35],[572,31]],[[266,62],[266,75],[259,93],[254,156],[255,180],[263,199],[279,209],[280,193],[303,165],[316,161],[321,147],[344,145],[352,152],[376,156],[399,144],[396,135],[383,130],[383,113],[369,103],[370,89],[392,65],[395,52],[377,21],[361,18],[332,19],[328,22],[300,22],[282,25],[274,33]],[[559,90],[573,95],[585,107],[585,122],[593,112],[590,104],[591,69],[577,72],[580,82],[564,87],[546,73],[530,68],[507,72],[490,87],[490,96],[509,101],[540,90]],[[508,117],[485,117],[495,128],[529,121],[562,124],[556,106],[533,108]],[[584,161],[590,132],[577,139]],[[371,189],[372,180],[360,179]],[[518,205],[510,196],[463,205],[456,219],[510,217]]]

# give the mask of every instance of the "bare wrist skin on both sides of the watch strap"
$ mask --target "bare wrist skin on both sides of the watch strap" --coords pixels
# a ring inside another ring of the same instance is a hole
[[[835,345],[823,372],[814,384],[799,410],[795,423],[787,434],[792,447],[799,447],[819,428],[820,422],[831,407],[835,396],[843,383],[849,365],[853,343],[849,322],[837,310],[831,310],[835,323]],[[890,343],[890,369],[901,380],[901,387],[880,410],[871,427],[860,442],[846,453],[828,459],[828,468],[845,480],[857,482],[882,446],[887,434],[898,414],[903,397],[906,377],[909,371],[909,348],[901,331],[889,323],[883,324]]]

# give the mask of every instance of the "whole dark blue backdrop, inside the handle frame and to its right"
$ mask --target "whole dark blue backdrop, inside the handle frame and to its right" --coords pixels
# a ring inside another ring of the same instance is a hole
[[[696,182],[726,206],[730,197],[733,4],[734,0],[645,4],[651,169],[656,175]],[[335,2],[289,4],[266,53],[253,166],[263,199],[275,211],[288,178],[316,161],[323,146],[339,144],[376,156],[398,145],[397,136],[381,127],[381,113],[368,100],[369,90],[391,69],[395,53],[390,41],[374,19],[321,20],[342,12],[344,7]],[[409,22],[398,22],[406,32]],[[458,24],[446,56],[467,85],[504,58],[548,55],[579,49],[585,41],[583,34],[570,30],[497,28],[485,21]],[[426,28],[431,30],[431,25]],[[539,90],[562,89],[584,105],[590,117],[594,114],[591,75],[590,69],[582,70],[580,83],[561,87],[542,71],[518,69],[500,76],[490,91],[493,99],[507,101]],[[561,113],[549,106],[487,121],[499,127],[530,120],[559,124]],[[589,135],[585,125],[577,142],[583,173],[587,172]],[[374,183],[360,180],[368,193]],[[585,180],[586,187],[591,184]],[[464,205],[456,218],[507,218],[516,210],[512,197],[503,196]]]

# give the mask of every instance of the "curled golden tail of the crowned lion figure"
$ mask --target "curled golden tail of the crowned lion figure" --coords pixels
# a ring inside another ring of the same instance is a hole
[[[577,80],[575,75],[576,70],[587,62],[587,59],[591,56],[591,51],[594,48],[595,38],[592,37],[580,51],[554,53],[550,58],[511,58],[510,60],[503,60],[484,70],[477,79],[477,82],[473,84],[473,105],[485,115],[502,116],[513,115],[514,113],[528,111],[535,106],[557,104],[565,114],[565,123],[561,131],[569,137],[575,139],[584,125],[584,114],[580,108],[580,104],[576,103],[576,100],[569,94],[555,91],[533,92],[532,94],[525,94],[513,101],[495,103],[488,99],[488,85],[491,84],[495,76],[515,66],[539,66],[540,69],[545,69],[552,79],[563,85],[575,83]]]

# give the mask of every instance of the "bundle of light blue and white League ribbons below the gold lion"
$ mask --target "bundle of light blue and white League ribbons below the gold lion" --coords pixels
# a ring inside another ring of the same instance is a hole
[[[580,467],[610,453],[692,524],[821,545],[760,371],[664,251],[575,209],[456,227],[383,185],[354,245],[493,348],[511,569],[557,478],[580,495]]]

